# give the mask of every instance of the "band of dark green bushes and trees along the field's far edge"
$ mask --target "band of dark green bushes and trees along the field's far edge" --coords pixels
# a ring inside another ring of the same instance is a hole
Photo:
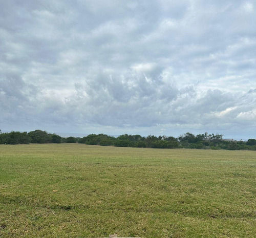
[[[204,134],[193,135],[186,133],[179,138],[172,136],[142,137],[140,135],[121,135],[116,137],[105,134],[91,134],[83,138],[63,138],[56,134],[49,134],[39,129],[33,132],[1,133],[0,144],[29,144],[29,143],[80,143],[88,145],[113,145],[117,147],[144,147],[144,148],[194,148],[194,149],[229,149],[256,150],[256,140],[248,141],[224,140],[223,135]]]

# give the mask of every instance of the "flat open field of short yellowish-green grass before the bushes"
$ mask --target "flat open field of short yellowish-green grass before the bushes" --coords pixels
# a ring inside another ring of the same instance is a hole
[[[256,153],[0,145],[0,237],[253,237]]]

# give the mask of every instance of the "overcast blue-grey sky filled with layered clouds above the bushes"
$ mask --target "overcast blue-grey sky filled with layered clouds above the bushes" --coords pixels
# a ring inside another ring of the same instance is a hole
[[[0,129],[255,138],[256,1],[0,0]]]

